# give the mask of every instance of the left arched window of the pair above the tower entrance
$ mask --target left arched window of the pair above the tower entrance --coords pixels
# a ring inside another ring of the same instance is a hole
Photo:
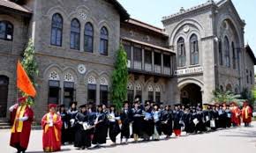
[[[185,47],[183,38],[177,40],[177,62],[179,67],[185,65]]]

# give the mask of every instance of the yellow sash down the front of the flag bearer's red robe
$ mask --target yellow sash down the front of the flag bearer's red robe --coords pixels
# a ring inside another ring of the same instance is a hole
[[[11,128],[11,133],[15,133],[16,131],[22,132],[23,121],[19,120],[19,118],[22,118],[24,116],[25,110],[26,110],[26,106],[18,107],[18,110],[15,115],[15,120],[14,120],[13,126]]]

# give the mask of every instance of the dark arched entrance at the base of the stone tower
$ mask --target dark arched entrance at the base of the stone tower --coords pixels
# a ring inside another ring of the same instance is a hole
[[[187,84],[180,91],[180,99],[183,105],[197,106],[202,104],[201,88],[197,84]]]

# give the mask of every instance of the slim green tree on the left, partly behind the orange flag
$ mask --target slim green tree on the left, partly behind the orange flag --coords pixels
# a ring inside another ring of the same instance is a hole
[[[34,84],[34,86],[36,86],[35,77],[38,76],[39,71],[37,62],[34,57],[34,44],[32,40],[28,41],[21,64],[26,70],[26,74],[30,78],[31,82]],[[25,93],[22,93],[22,95],[26,96]],[[34,99],[29,97],[27,98],[26,102],[30,105],[34,104]]]

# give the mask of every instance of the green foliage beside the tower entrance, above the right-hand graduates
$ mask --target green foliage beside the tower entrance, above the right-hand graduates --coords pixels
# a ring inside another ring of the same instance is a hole
[[[231,91],[221,91],[219,89],[213,91],[213,101],[215,103],[227,103],[237,101],[238,98],[240,98],[240,95],[236,95],[232,93]]]

